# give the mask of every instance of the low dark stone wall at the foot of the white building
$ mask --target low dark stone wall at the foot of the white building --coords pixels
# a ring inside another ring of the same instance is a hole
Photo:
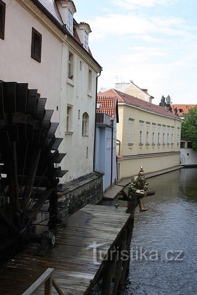
[[[61,190],[58,192],[59,218],[64,219],[68,214],[87,204],[97,204],[102,199],[102,175],[89,173],[63,184]]]

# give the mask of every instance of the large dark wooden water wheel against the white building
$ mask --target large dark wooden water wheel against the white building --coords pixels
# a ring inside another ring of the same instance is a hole
[[[66,154],[45,103],[28,84],[0,81],[0,258],[21,245],[47,200],[49,228],[58,222],[57,177],[67,171],[54,164]]]

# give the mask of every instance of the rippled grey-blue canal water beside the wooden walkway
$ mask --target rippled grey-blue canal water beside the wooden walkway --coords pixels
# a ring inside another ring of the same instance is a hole
[[[148,179],[156,195],[135,212],[130,273],[121,295],[197,295],[197,168]],[[127,207],[127,202],[103,205]],[[100,293],[100,286],[95,290]]]

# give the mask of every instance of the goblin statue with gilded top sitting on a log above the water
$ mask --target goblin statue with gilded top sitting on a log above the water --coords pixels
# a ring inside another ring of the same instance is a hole
[[[132,213],[133,209],[138,205],[140,212],[148,210],[148,208],[144,206],[143,198],[155,195],[155,191],[148,191],[148,185],[149,182],[146,182],[144,169],[143,166],[141,166],[138,175],[131,178],[128,195],[123,190],[118,193],[118,199],[128,201],[126,213]]]

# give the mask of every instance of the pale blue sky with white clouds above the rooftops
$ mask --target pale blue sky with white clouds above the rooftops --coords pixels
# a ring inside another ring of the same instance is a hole
[[[197,0],[74,0],[102,66],[100,88],[132,81],[158,104],[197,104]]]

